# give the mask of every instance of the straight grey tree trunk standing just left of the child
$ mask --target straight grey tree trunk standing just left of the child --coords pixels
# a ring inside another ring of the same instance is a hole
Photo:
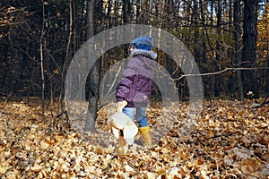
[[[88,0],[87,2],[87,39],[94,36],[94,8],[95,0]],[[89,45],[90,46],[90,45]],[[93,49],[94,47],[89,47]],[[100,67],[99,63],[95,63],[92,66],[90,72],[90,94],[89,94],[89,106],[88,114],[85,124],[85,132],[94,132],[95,131],[95,120],[97,117],[97,107],[99,99],[99,87],[100,87]]]

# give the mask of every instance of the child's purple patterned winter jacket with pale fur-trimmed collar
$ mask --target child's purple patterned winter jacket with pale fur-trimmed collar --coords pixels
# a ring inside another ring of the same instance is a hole
[[[126,100],[126,107],[134,107],[134,97],[139,93],[151,99],[152,69],[155,64],[152,59],[157,55],[152,51],[136,49],[130,57],[116,92],[117,102]]]

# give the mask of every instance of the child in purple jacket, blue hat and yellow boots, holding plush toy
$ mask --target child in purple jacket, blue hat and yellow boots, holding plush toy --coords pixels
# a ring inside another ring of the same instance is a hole
[[[132,120],[135,117],[143,144],[152,145],[145,107],[151,99],[153,59],[157,58],[157,55],[152,52],[153,39],[149,36],[135,38],[131,46],[130,60],[126,65],[124,77],[117,87],[117,106],[121,105],[121,101],[127,101],[123,113]]]

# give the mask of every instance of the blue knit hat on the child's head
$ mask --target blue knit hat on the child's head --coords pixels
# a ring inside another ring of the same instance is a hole
[[[153,46],[153,39],[149,36],[143,36],[140,38],[135,38],[132,42],[131,45],[136,47],[137,49],[143,49],[147,51],[152,50]]]

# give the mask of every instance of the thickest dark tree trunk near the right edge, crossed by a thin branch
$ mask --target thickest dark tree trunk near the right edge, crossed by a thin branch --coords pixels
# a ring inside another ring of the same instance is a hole
[[[244,1],[244,24],[243,24],[243,51],[242,61],[245,67],[256,66],[256,39],[257,39],[257,0],[245,0]],[[256,77],[254,71],[242,72],[242,78],[244,83],[244,94],[248,91],[254,93],[255,98],[258,97],[258,91],[256,89]]]

